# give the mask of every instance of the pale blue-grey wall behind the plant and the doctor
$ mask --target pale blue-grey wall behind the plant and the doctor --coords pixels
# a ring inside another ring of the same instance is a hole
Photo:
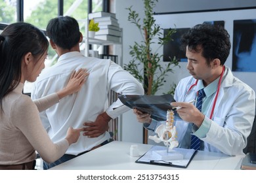
[[[163,0],[162,0],[163,1]],[[135,25],[128,22],[128,10],[125,8],[133,6],[133,10],[139,12],[140,16],[144,16],[143,11],[143,1],[137,0],[117,0],[116,1],[116,16],[120,27],[123,28],[123,63],[129,63],[131,60],[131,56],[129,55],[129,45],[133,45],[135,41],[139,42],[142,40],[137,27]],[[157,8],[161,9],[161,7],[165,7],[166,5],[161,1],[157,3]],[[141,17],[143,18],[143,17]],[[217,21],[224,20],[225,27],[230,33],[230,37],[232,38],[232,20],[242,20],[242,19],[256,19],[256,10],[232,10],[230,12],[207,12],[205,13],[192,13],[192,14],[161,14],[155,16],[158,24],[161,25],[162,28],[169,27],[192,27],[196,24],[202,24],[204,21]],[[232,42],[232,39],[231,39]],[[160,51],[160,54],[162,50]],[[163,66],[165,65],[162,62]],[[170,84],[178,83],[181,78],[188,76],[188,72],[186,71],[186,63],[180,63],[181,69],[175,69],[174,74],[170,74],[168,76],[167,82],[165,86],[158,92],[157,94],[161,94],[169,90]],[[230,56],[226,61],[226,65],[228,67],[232,66],[232,48],[230,52]],[[240,78],[240,80],[247,83],[253,90],[256,91],[256,82],[254,82],[253,78],[256,77],[256,73],[239,73],[234,72],[234,75]],[[121,140],[129,141],[129,142],[142,142],[142,125],[139,124],[135,118],[135,115],[130,110],[129,112],[123,114],[122,119],[122,130],[121,130]]]

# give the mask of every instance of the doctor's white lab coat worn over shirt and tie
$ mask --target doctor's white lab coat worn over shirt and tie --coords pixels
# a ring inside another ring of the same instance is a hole
[[[213,119],[209,119],[211,107],[205,114],[205,120],[210,120],[211,125],[201,140],[204,142],[203,150],[205,151],[223,152],[234,156],[243,154],[247,137],[251,132],[255,116],[255,92],[247,84],[234,77],[228,67],[226,71],[223,82],[221,82]],[[175,90],[175,101],[194,99],[198,86],[194,86],[188,94],[186,93],[195,82],[192,76],[182,79]],[[213,106],[213,101],[210,106]],[[192,125],[182,120],[176,122],[175,125],[178,136],[183,137],[179,137],[180,146],[189,148]]]

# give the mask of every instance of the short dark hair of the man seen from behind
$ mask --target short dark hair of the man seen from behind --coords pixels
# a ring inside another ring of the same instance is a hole
[[[75,18],[58,16],[49,21],[46,34],[60,48],[70,50],[79,43],[80,31]]]

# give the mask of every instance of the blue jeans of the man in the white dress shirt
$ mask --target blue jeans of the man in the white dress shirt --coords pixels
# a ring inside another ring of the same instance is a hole
[[[100,145],[103,146],[104,144],[108,144],[108,141],[104,141]],[[85,151],[85,152],[81,152],[80,154],[77,154],[76,156],[72,155],[72,154],[64,154],[60,159],[57,159],[53,163],[47,163],[46,161],[43,161],[43,169],[44,170],[51,169],[52,167],[55,167],[56,165],[60,165],[61,163],[64,163],[70,159],[77,157],[77,156],[81,156],[82,154],[85,154],[87,152],[89,152],[89,150]]]

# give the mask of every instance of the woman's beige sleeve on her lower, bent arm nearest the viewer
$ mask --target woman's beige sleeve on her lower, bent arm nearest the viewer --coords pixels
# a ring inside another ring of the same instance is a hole
[[[68,150],[68,141],[53,143],[43,128],[37,107],[30,98],[18,100],[12,108],[12,123],[22,131],[45,161],[52,163]]]

